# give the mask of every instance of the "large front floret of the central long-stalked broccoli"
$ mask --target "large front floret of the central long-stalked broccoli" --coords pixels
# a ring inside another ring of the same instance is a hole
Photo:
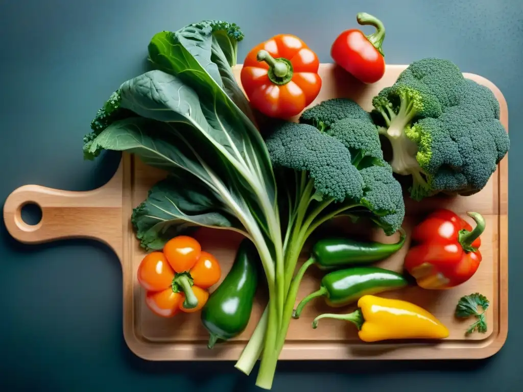
[[[335,201],[358,201],[363,180],[347,148],[309,124],[282,122],[266,140],[272,165],[309,172],[316,192]]]

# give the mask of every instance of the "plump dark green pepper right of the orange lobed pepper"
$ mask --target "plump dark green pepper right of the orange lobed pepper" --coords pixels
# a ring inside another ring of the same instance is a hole
[[[259,263],[254,244],[244,239],[229,273],[201,309],[201,322],[210,335],[209,349],[219,339],[234,338],[247,327],[258,285]]]

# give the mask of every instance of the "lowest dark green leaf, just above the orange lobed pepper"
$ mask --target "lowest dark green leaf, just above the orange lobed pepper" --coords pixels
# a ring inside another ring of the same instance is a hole
[[[147,199],[133,210],[132,223],[141,246],[152,250],[162,249],[170,238],[201,226],[232,229],[247,236],[217,195],[181,171],[156,183]]]

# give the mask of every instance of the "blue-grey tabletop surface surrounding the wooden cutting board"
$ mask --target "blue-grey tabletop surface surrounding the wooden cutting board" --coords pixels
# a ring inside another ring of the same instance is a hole
[[[87,190],[112,176],[118,156],[84,162],[82,136],[108,95],[142,72],[154,33],[224,19],[245,32],[240,62],[253,45],[283,32],[330,62],[331,42],[357,26],[358,11],[384,22],[389,64],[446,57],[492,80],[508,101],[510,332],[503,349],[484,361],[280,362],[273,390],[521,390],[521,0],[1,0],[1,203],[28,183]],[[122,336],[120,265],[105,246],[23,246],[3,224],[0,230],[0,390],[257,389],[255,372],[246,377],[233,363],[134,356]]]

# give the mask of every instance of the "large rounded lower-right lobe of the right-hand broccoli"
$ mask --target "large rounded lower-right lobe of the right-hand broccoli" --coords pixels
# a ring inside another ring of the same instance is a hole
[[[433,193],[480,191],[509,148],[491,105],[452,107],[437,119],[418,121],[413,132],[419,135],[416,159],[425,174],[433,176]]]

